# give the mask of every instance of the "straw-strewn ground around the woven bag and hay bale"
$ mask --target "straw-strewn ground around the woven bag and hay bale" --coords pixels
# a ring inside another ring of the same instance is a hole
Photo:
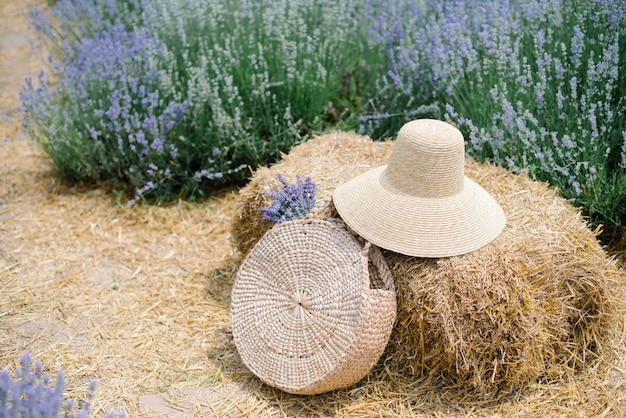
[[[65,371],[69,396],[84,397],[87,379],[95,378],[94,411],[132,417],[145,415],[138,402],[144,394],[169,392],[174,400],[186,389],[232,384],[243,390],[231,403],[197,408],[196,415],[625,413],[623,356],[530,380],[522,392],[491,400],[400,373],[389,355],[358,385],[329,394],[287,395],[260,384],[237,355],[228,316],[239,262],[231,238],[241,242],[230,234],[238,191],[193,205],[127,208],[104,188],[59,184],[49,160],[19,133],[16,93],[22,76],[38,70],[15,38],[23,33],[21,4],[0,4],[0,368],[15,367],[30,351],[47,371]],[[344,158],[343,176],[370,164]],[[615,319],[619,326],[624,318]]]

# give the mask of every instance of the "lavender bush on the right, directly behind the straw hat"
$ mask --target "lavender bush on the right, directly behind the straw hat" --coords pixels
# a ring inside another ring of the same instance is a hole
[[[368,133],[431,104],[473,157],[548,181],[609,233],[626,226],[623,0],[381,3],[372,39],[390,65]]]

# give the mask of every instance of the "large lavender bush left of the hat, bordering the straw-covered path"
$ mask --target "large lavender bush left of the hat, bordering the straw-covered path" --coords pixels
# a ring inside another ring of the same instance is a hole
[[[54,81],[27,82],[25,128],[62,173],[130,184],[131,203],[243,181],[324,127],[355,67],[356,8],[59,0],[59,23],[32,8]]]

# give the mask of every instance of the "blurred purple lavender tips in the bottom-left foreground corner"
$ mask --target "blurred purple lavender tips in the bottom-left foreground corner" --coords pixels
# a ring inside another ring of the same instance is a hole
[[[0,416],[4,418],[49,418],[49,417],[89,417],[89,404],[76,405],[65,400],[63,391],[65,380],[59,371],[55,386],[50,386],[51,378],[43,373],[40,362],[35,365],[29,353],[20,358],[20,368],[15,378],[7,370],[0,372]],[[90,382],[89,399],[93,397],[95,382]]]

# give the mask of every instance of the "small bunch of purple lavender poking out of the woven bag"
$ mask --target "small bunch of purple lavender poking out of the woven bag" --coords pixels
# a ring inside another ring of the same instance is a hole
[[[263,218],[280,224],[285,221],[304,218],[315,207],[315,194],[317,186],[310,177],[304,179],[296,175],[296,183],[290,184],[282,174],[278,175],[282,189],[274,188],[266,192],[266,196],[272,198],[269,206],[261,207]]]

